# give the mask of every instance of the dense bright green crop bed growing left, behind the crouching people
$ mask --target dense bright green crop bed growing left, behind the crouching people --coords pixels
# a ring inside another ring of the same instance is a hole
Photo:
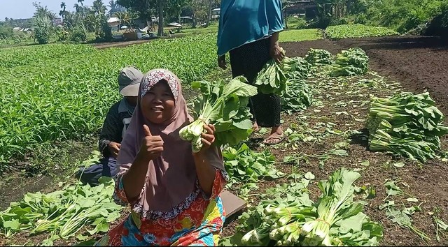
[[[0,68],[0,161],[23,155],[37,144],[95,133],[120,97],[116,81],[120,68],[134,65],[144,72],[167,68],[190,82],[216,66],[216,34],[121,49],[41,48],[27,48],[25,52],[36,59],[27,62],[21,61],[22,48],[0,50],[0,57],[6,57],[3,63],[10,64]]]

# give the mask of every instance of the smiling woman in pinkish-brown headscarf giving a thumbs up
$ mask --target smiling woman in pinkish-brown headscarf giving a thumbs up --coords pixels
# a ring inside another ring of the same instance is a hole
[[[139,100],[121,144],[114,196],[132,212],[96,246],[216,246],[225,220],[219,194],[225,186],[214,126],[193,154],[179,130],[188,115],[181,83],[168,70],[143,78]]]

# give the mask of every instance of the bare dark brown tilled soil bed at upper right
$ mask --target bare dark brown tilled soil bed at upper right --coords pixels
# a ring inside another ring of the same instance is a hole
[[[370,57],[370,68],[380,75],[400,82],[416,93],[428,90],[440,110],[448,114],[448,43],[439,37],[394,36],[314,40],[283,43],[288,56],[304,56],[309,48],[325,49],[336,54],[340,50],[360,47]]]

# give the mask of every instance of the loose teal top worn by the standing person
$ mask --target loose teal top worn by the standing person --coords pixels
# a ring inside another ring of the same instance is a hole
[[[222,0],[218,55],[283,30],[281,0]]]

